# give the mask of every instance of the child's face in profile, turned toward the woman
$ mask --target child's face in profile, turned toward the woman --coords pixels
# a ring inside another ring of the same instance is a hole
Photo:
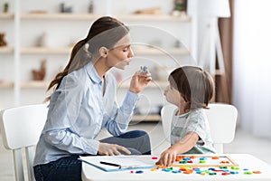
[[[175,90],[171,85],[168,85],[164,90],[165,100],[180,107],[182,96],[178,90]]]

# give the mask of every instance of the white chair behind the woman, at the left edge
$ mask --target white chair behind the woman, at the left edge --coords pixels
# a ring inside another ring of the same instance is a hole
[[[14,172],[17,181],[24,180],[23,170],[28,180],[33,177],[34,146],[42,133],[47,118],[45,104],[22,106],[0,112],[0,131],[6,149],[13,150]],[[25,149],[26,168],[23,169],[22,150]]]

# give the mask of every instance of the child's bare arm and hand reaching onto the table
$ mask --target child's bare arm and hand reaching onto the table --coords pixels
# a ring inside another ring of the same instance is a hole
[[[196,145],[198,140],[199,136],[197,133],[187,133],[187,135],[185,135],[173,146],[164,150],[156,164],[159,164],[161,166],[171,166],[175,161],[177,154],[182,154],[189,151]]]

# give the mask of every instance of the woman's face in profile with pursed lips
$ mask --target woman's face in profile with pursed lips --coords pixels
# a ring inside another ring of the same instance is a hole
[[[110,67],[124,70],[129,65],[134,52],[131,49],[130,36],[126,34],[120,39],[113,49],[108,51],[107,63]]]

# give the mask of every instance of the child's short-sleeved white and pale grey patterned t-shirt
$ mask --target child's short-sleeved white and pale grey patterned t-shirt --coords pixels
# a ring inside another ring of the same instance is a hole
[[[203,109],[191,110],[181,116],[176,116],[177,110],[174,110],[171,144],[175,144],[189,132],[195,132],[199,136],[196,145],[184,154],[210,154],[216,153],[213,147],[213,141],[210,138],[210,126],[207,116]]]

